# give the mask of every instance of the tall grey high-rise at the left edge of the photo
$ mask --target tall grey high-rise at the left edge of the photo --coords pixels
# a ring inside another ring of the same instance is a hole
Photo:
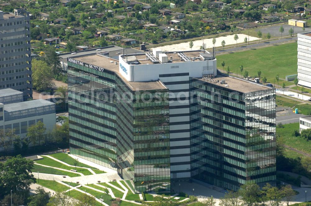
[[[29,13],[0,11],[0,89],[21,91],[24,101],[32,98],[30,54]]]

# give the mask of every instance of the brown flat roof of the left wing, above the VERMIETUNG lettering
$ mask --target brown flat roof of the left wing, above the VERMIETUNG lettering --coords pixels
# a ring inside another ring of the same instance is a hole
[[[140,91],[140,90],[154,90],[154,89],[167,89],[160,81],[146,81],[146,82],[129,82],[126,80],[121,74],[119,74],[119,63],[118,60],[109,58],[107,56],[102,56],[99,54],[93,54],[89,56],[81,56],[74,58],[76,60],[96,65],[98,67],[108,69],[116,73],[122,80],[132,88],[132,91]],[[113,62],[111,62],[113,61]],[[114,62],[117,61],[117,65]]]

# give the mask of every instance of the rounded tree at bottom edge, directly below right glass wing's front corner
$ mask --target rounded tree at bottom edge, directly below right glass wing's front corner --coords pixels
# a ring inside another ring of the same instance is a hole
[[[239,195],[245,205],[253,206],[254,203],[259,202],[261,194],[260,188],[256,183],[247,182],[242,185],[239,190]]]

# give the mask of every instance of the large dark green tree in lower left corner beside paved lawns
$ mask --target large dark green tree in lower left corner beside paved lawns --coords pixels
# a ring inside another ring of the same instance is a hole
[[[23,196],[29,194],[29,186],[35,182],[34,176],[30,173],[33,164],[32,160],[21,155],[11,157],[4,163],[0,162],[0,199],[10,194],[11,190],[14,193],[18,191]]]

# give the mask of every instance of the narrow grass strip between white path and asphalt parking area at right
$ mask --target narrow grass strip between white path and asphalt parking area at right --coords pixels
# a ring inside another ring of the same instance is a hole
[[[276,96],[276,105],[290,107],[290,108],[297,108],[299,114],[310,115],[311,114],[311,105],[310,104],[301,104],[299,101],[291,100],[285,98],[283,96]]]

